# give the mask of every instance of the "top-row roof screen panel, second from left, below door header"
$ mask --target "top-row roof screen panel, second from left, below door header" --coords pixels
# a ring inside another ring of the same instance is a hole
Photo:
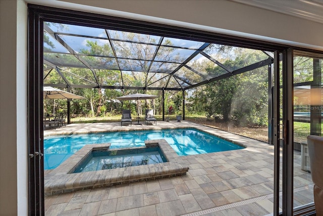
[[[139,34],[126,31],[107,30],[110,38],[119,40],[131,40],[136,42],[145,42],[149,44],[158,44],[160,37],[148,34]]]

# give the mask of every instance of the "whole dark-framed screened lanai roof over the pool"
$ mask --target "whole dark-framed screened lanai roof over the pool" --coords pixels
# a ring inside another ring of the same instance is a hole
[[[240,66],[228,64],[245,52],[253,53],[257,60]],[[174,37],[45,22],[43,61],[44,85],[52,87],[186,90],[271,64],[273,54]]]

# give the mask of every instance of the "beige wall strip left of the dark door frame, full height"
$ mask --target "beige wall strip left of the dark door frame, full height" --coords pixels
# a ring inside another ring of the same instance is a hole
[[[0,14],[0,215],[26,215],[27,7],[0,0]]]

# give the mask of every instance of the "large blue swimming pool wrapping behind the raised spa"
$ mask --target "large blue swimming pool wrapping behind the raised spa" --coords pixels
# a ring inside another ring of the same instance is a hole
[[[56,168],[86,144],[111,143],[110,149],[131,148],[155,139],[165,139],[180,156],[244,148],[193,128],[48,136],[44,138],[44,169]]]

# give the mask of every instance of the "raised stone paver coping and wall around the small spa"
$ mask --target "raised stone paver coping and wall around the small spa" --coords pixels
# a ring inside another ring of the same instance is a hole
[[[158,145],[169,162],[70,173],[92,150],[110,147],[110,144],[85,145],[61,165],[45,175],[45,196],[186,175],[189,167],[178,163],[180,156],[177,155],[166,140],[148,140],[145,141],[145,144],[148,147]]]

